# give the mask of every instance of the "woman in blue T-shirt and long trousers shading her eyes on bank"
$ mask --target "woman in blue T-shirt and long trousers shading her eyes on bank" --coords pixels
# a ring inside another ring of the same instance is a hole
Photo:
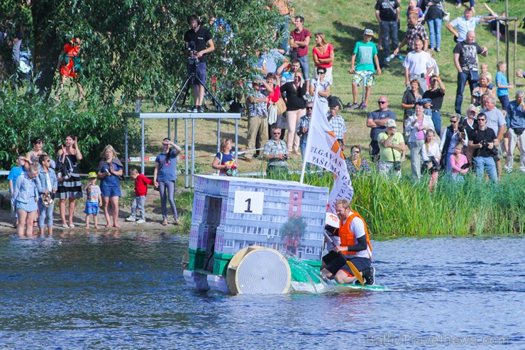
[[[173,150],[170,151],[170,147]],[[160,206],[162,207],[162,226],[167,225],[167,201],[173,212],[175,224],[179,223],[179,214],[175,207],[175,180],[177,180],[177,155],[182,148],[173,143],[169,138],[162,140],[162,153],[155,158],[153,171],[153,185],[159,187]]]

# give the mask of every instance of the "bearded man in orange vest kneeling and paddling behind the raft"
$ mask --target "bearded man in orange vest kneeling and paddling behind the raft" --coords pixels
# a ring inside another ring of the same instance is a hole
[[[338,235],[341,244],[323,257],[326,266],[321,272],[327,278],[335,278],[337,283],[353,283],[357,278],[346,263],[348,260],[363,275],[365,284],[373,285],[375,268],[370,266],[372,245],[365,220],[358,213],[350,210],[350,203],[346,199],[337,200],[336,214],[339,218],[339,228],[326,226],[326,230]]]

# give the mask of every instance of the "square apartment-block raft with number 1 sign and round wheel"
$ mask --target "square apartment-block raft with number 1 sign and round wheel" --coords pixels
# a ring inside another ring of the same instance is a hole
[[[323,291],[327,202],[326,187],[197,175],[184,280],[230,294]]]

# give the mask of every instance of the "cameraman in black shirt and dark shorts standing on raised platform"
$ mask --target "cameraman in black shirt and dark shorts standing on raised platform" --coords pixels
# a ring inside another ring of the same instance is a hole
[[[202,112],[204,102],[204,84],[206,84],[206,55],[215,50],[214,40],[205,28],[201,28],[201,21],[197,15],[189,16],[188,24],[191,27],[184,33],[184,47],[188,50],[188,73],[194,73],[199,80],[192,80],[194,107],[189,112]]]

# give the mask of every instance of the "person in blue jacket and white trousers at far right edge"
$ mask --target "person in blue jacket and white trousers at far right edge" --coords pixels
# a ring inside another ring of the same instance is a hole
[[[516,91],[516,99],[509,103],[507,107],[507,127],[509,128],[509,151],[507,152],[507,162],[505,170],[512,173],[514,166],[514,148],[519,141],[519,171],[525,172],[525,102],[524,92]]]

